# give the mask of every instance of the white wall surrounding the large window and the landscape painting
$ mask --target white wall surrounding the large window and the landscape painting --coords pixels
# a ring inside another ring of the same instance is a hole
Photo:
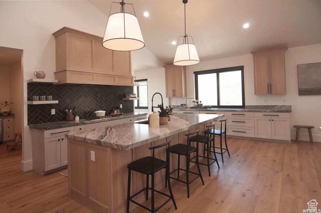
[[[195,71],[218,69],[225,67],[244,65],[245,105],[291,105],[291,139],[295,139],[293,125],[311,125],[314,141],[321,142],[321,96],[299,96],[298,91],[298,64],[321,62],[321,44],[303,47],[289,48],[285,52],[286,70],[286,95],[254,95],[254,61],[253,55],[241,55],[230,58],[222,58],[204,61],[196,65],[187,66],[187,97],[194,98],[194,74]],[[286,103],[282,103],[282,99]],[[263,104],[266,99],[266,104]],[[177,101],[177,104],[175,104]],[[170,105],[186,103],[186,98],[169,98]],[[206,103],[204,103],[206,105]],[[299,140],[309,141],[306,129],[300,130]]]

